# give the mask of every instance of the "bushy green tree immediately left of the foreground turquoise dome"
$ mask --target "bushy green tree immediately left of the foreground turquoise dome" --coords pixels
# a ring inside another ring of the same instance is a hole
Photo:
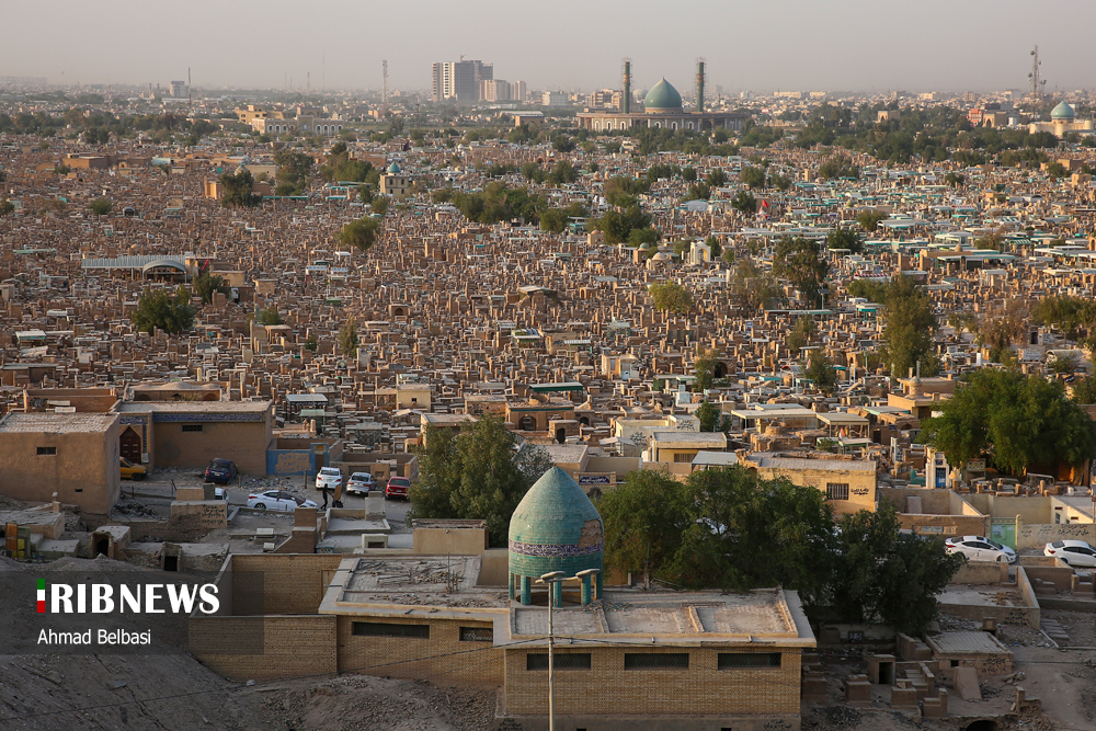
[[[544,448],[526,444],[494,418],[466,423],[459,432],[427,425],[419,458],[419,482],[411,487],[415,518],[487,522],[491,546],[505,546],[510,518],[525,493],[550,467]]]

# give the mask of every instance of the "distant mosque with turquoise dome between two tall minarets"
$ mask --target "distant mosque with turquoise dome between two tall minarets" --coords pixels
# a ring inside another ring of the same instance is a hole
[[[631,61],[624,62],[624,90],[620,95],[620,108],[580,112],[579,127],[594,132],[612,132],[614,129],[631,129],[636,127],[658,127],[661,129],[692,129],[704,132],[724,127],[739,132],[750,118],[749,114],[738,112],[707,112],[704,107],[705,62],[697,61],[696,72],[696,110],[686,112],[682,106],[682,95],[673,84],[665,79],[659,81],[647,92],[641,112],[632,111],[631,104]]]

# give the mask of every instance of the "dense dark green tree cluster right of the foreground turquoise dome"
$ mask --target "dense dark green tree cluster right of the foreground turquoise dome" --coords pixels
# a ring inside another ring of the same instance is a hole
[[[962,564],[943,541],[901,537],[882,504],[835,519],[825,494],[744,467],[641,470],[598,501],[605,566],[675,589],[798,590],[813,616],[920,632]]]

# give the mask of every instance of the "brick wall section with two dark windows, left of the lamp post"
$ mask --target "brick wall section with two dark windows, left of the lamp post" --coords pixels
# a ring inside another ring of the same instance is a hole
[[[391,621],[430,625],[430,639],[408,637],[362,637],[353,633],[353,623]],[[501,685],[502,650],[491,642],[463,642],[461,627],[489,629],[491,621],[458,619],[387,619],[339,617],[339,672],[357,671],[426,679],[436,684]],[[541,704],[543,705],[543,704]]]

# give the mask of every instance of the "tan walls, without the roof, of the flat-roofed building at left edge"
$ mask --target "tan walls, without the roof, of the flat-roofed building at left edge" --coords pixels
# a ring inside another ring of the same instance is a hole
[[[54,447],[54,455],[38,455]],[[101,432],[3,432],[0,494],[28,502],[62,503],[107,515],[122,491],[118,421]]]

